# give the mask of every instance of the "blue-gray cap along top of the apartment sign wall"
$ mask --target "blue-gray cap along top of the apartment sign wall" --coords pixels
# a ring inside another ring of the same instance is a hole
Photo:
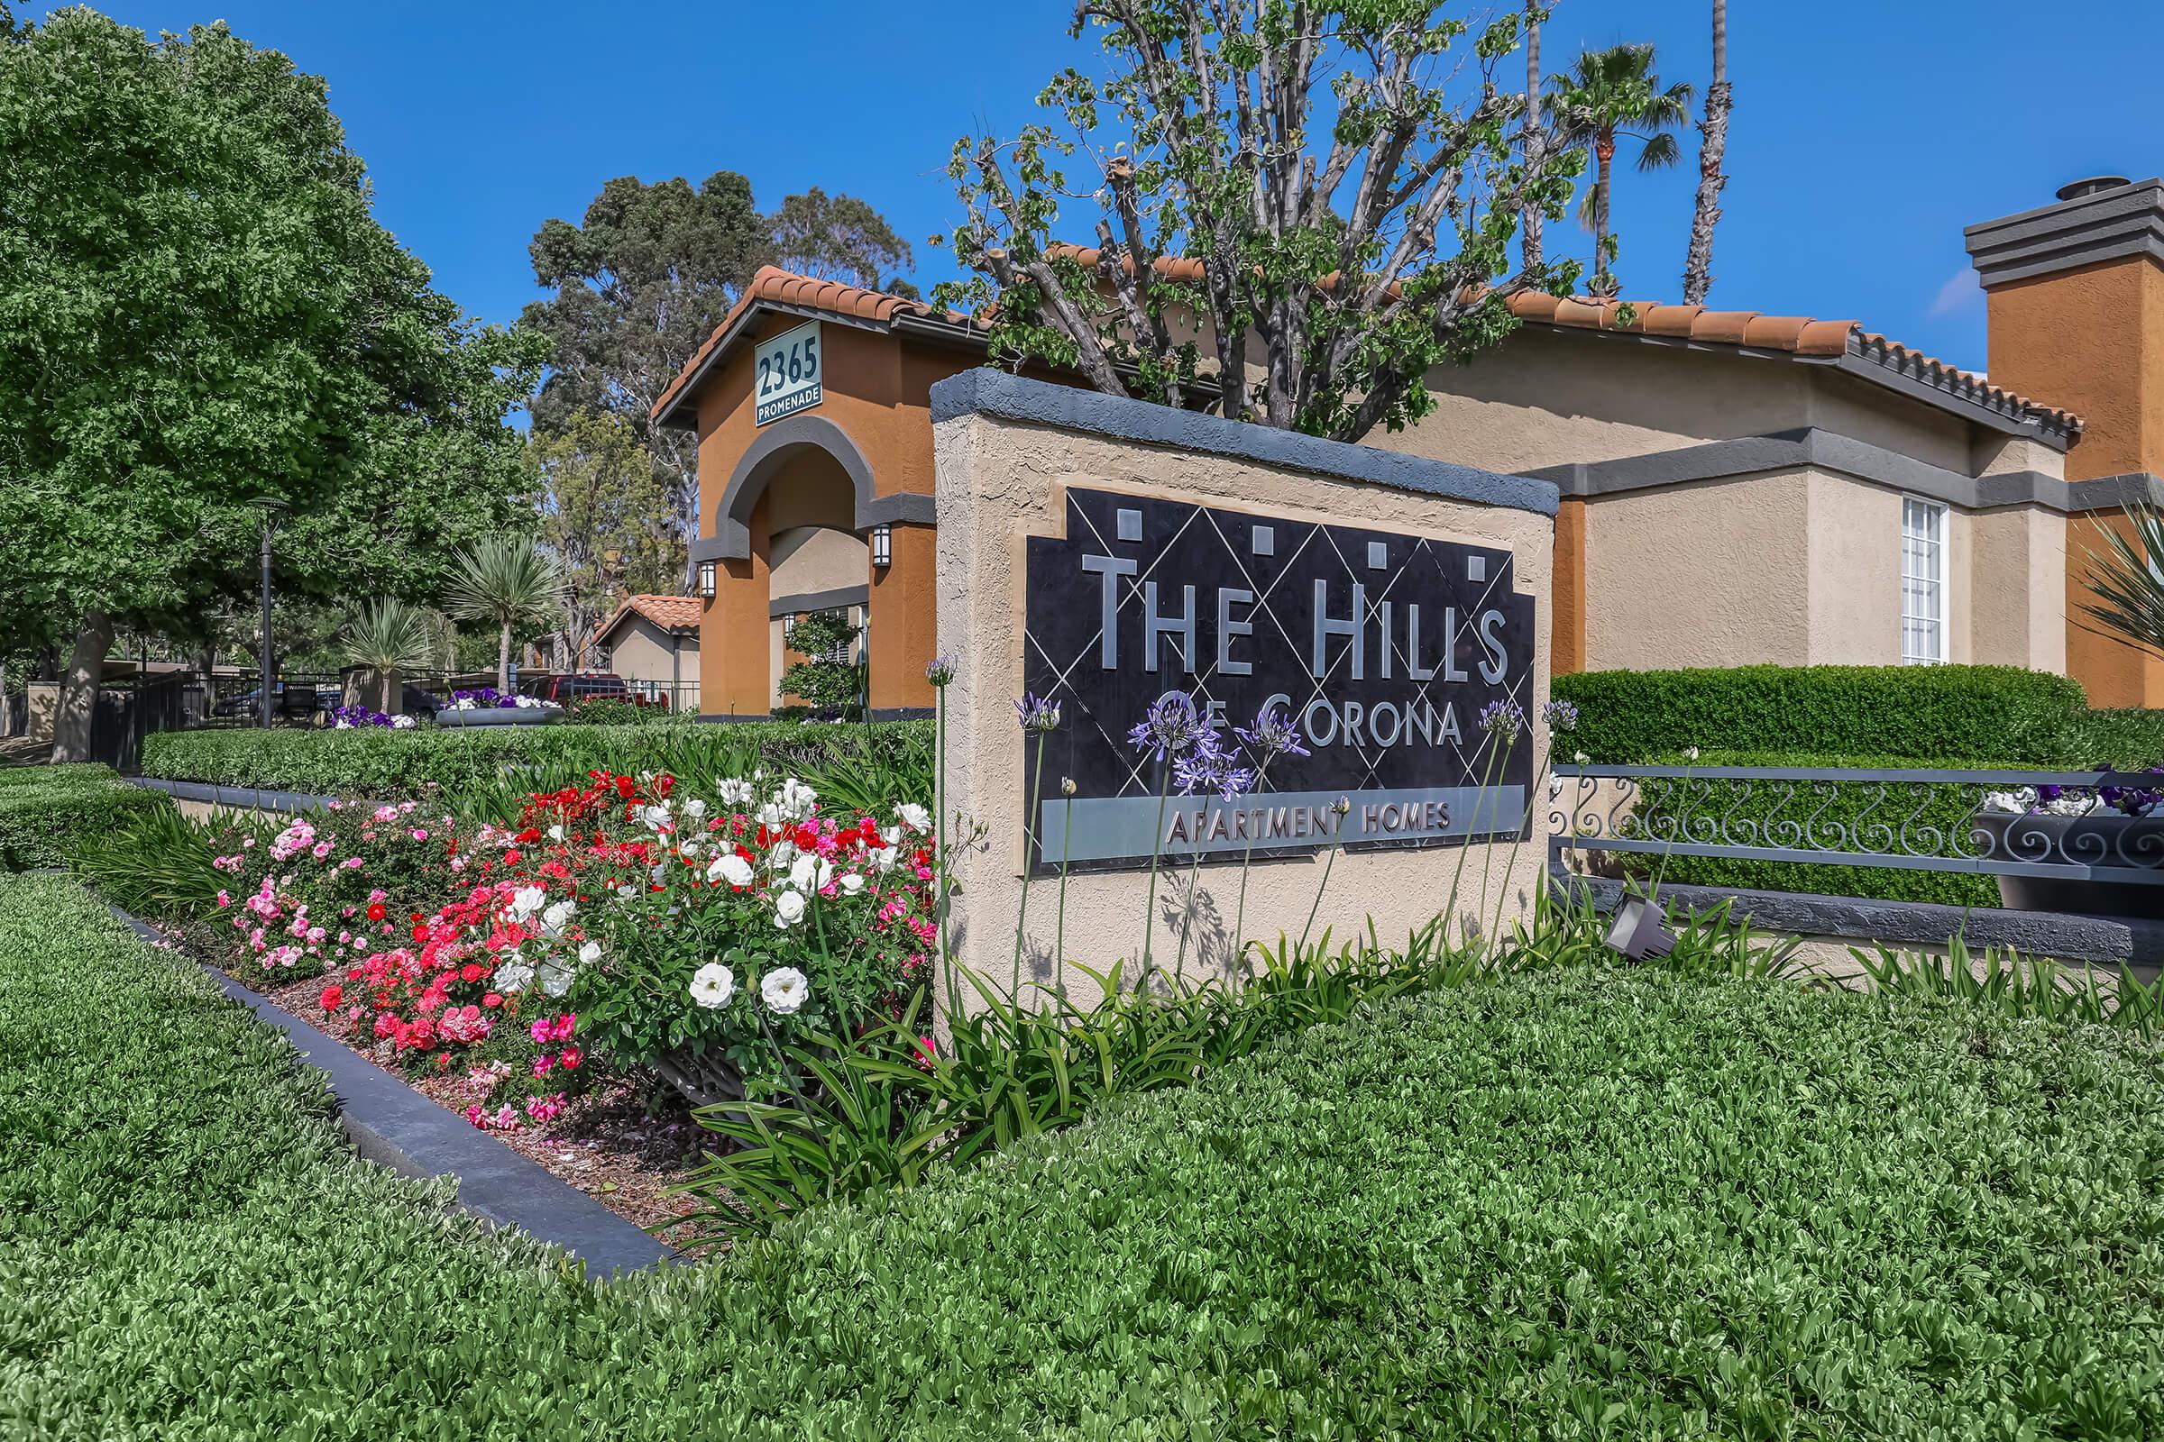
[[[998,415],[1032,426],[1086,430],[1091,435],[1173,445],[1236,456],[1318,476],[1337,476],[1396,491],[1417,491],[1478,506],[1508,506],[1534,515],[1556,515],[1556,486],[1526,476],[1500,476],[1448,460],[1424,460],[1372,445],[1346,445],[1292,430],[1249,426],[1220,415],[1175,411],[1147,400],[1104,396],[1071,385],[1028,380],[1000,370],[976,368],[933,387],[933,422],[959,415]]]

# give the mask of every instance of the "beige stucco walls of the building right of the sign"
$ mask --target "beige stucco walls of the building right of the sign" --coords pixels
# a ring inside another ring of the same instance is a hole
[[[1809,426],[1961,476],[2064,473],[2041,441],[1831,365],[1731,350],[1528,326],[1428,387],[1428,417],[1370,441],[1532,471]],[[1900,517],[1898,489],[1818,467],[1591,495],[1584,666],[1896,664]],[[2062,519],[1954,506],[1945,530],[1948,659],[2064,670]]]

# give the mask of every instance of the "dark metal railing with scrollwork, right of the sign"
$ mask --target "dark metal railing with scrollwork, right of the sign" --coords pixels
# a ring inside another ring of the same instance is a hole
[[[2108,809],[2114,793],[2160,787],[2164,776],[2147,772],[1558,765],[1549,860],[1705,856],[2160,884],[2164,817]],[[2058,815],[1987,800],[2021,791],[2101,796],[2106,809]]]

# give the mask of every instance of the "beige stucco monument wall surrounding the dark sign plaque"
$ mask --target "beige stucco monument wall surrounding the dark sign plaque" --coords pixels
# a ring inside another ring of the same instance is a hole
[[[954,871],[961,895],[952,940],[963,964],[985,975],[1008,977],[1015,945],[1015,914],[1021,899],[1024,774],[1021,731],[1013,700],[1021,694],[1024,646],[1024,545],[1026,536],[1056,536],[1065,530],[1065,489],[1086,484],[1099,491],[1158,495],[1210,506],[1253,510],[1329,523],[1357,523],[1448,540],[1508,547],[1517,590],[1534,599],[1545,627],[1549,605],[1549,517],[1446,502],[1376,484],[1311,476],[1220,454],[1136,445],[1088,432],[1015,424],[989,415],[961,415],[935,426],[939,476],[939,649],[959,659],[948,687],[948,798],[946,811],[982,824],[985,837],[956,847]],[[1528,707],[1547,698],[1547,646],[1534,646]],[[1545,735],[1539,737],[1545,746]],[[1543,863],[1541,828],[1547,815],[1530,800],[1534,837],[1519,847],[1476,845],[1467,856],[1467,891],[1459,912],[1474,906],[1474,882],[1493,871],[1489,917],[1508,899],[1517,914]],[[1316,930],[1333,927],[1350,936],[1370,919],[1385,940],[1443,910],[1461,847],[1346,852],[1331,867]],[[1324,871],[1324,854],[1257,863],[1249,882],[1246,934],[1275,940],[1298,936]],[[1171,966],[1179,949],[1173,919],[1164,914],[1169,895],[1184,895],[1188,865],[1160,880],[1160,914],[1145,917],[1145,871],[1078,873],[1067,886],[1065,951],[1071,962],[1110,966],[1140,956],[1145,925],[1156,956]],[[1225,969],[1233,953],[1225,917],[1236,910],[1238,863],[1205,863],[1199,893],[1205,923],[1188,958],[1188,977]],[[1056,878],[1030,882],[1026,951],[1028,977],[1054,975]],[[1216,917],[1218,921],[1208,921]],[[1195,953],[1201,953],[1201,962]],[[1069,990],[1088,986],[1073,966],[1065,969]]]

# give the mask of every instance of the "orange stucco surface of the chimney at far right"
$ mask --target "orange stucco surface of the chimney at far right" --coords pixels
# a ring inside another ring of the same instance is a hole
[[[2164,268],[2142,255],[1995,285],[1991,378],[2082,415],[2067,480],[2164,476]],[[2164,707],[2164,659],[2082,618],[2086,556],[2116,512],[2067,523],[2067,675],[2099,707]]]

